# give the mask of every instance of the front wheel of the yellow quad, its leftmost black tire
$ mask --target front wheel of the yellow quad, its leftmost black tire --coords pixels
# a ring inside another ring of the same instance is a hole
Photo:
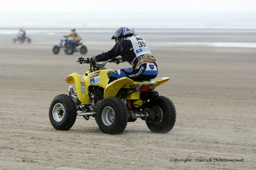
[[[76,104],[70,96],[56,96],[49,108],[49,119],[56,130],[68,131],[76,122]]]

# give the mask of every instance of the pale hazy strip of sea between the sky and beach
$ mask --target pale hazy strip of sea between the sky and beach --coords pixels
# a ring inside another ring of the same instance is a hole
[[[0,29],[256,29],[256,11],[0,12]]]

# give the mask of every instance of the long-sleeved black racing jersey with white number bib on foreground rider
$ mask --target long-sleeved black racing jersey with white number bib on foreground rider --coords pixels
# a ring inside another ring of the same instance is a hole
[[[125,61],[129,62],[133,69],[136,69],[139,66],[138,64],[156,61],[148,49],[147,43],[141,36],[132,36],[123,39],[117,42],[108,52],[103,52],[99,55],[93,56],[92,60],[95,62],[101,62],[119,55],[121,55]]]

